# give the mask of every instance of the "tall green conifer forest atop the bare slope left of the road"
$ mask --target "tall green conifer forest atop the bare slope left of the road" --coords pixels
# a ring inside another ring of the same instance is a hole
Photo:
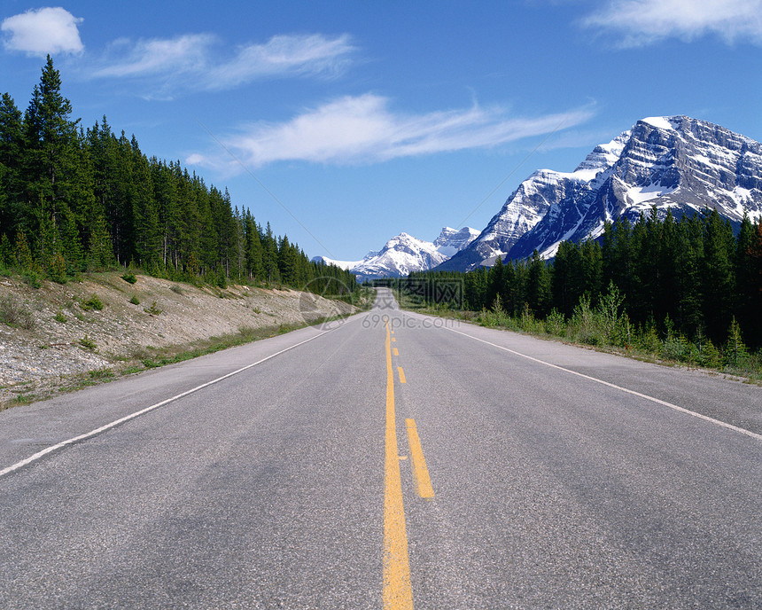
[[[175,280],[307,286],[338,294],[354,275],[310,262],[180,161],[149,158],[103,120],[83,128],[48,56],[21,113],[0,99],[0,268],[38,283],[133,266]]]

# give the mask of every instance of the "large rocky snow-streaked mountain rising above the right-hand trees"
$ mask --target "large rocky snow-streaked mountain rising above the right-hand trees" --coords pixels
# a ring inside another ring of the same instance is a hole
[[[687,116],[651,117],[598,145],[571,173],[541,169],[519,184],[470,246],[439,269],[469,270],[496,256],[543,257],[596,238],[606,221],[714,207],[738,222],[762,216],[762,145]]]

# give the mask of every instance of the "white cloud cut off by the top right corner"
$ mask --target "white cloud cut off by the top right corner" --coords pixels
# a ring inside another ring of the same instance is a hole
[[[623,35],[624,47],[706,34],[762,43],[762,0],[613,0],[582,21]]]

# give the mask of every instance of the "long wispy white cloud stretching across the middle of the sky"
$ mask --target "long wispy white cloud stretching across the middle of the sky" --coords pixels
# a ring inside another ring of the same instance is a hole
[[[540,117],[510,117],[502,108],[425,114],[393,113],[388,98],[366,94],[338,98],[282,123],[255,123],[224,145],[247,166],[284,160],[366,164],[399,157],[486,148],[546,134],[587,121],[591,108]],[[220,167],[215,155],[187,160]]]

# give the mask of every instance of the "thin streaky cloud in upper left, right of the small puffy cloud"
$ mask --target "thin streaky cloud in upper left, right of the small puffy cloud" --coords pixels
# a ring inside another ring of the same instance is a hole
[[[225,57],[214,35],[115,41],[93,78],[143,80],[152,93],[177,89],[226,90],[264,78],[296,75],[333,76],[350,62],[354,51],[348,35],[276,35],[266,43],[240,46]]]

